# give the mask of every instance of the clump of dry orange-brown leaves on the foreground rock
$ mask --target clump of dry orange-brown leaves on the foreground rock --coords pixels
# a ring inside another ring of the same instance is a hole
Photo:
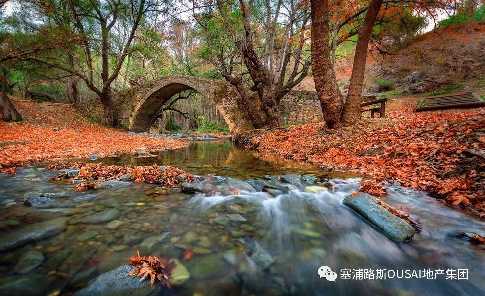
[[[136,267],[129,274],[131,276],[140,276],[140,281],[143,281],[149,276],[151,286],[158,280],[170,288],[169,280],[175,266],[170,264],[167,259],[152,256],[140,256],[140,252],[138,250],[136,250],[136,252],[136,256],[130,256],[130,265]]]

